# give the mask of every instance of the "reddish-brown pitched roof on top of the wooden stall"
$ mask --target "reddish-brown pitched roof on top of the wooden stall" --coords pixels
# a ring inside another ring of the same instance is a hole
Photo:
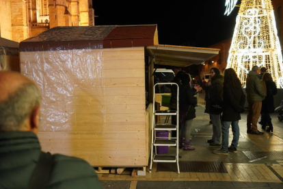
[[[105,49],[158,45],[157,25],[53,27],[23,40],[20,51]]]

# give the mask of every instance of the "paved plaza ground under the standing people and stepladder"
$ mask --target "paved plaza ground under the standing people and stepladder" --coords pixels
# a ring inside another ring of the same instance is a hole
[[[283,122],[278,114],[271,114],[274,132],[263,131],[263,136],[246,133],[247,110],[239,122],[241,136],[238,153],[215,155],[206,142],[211,139],[212,125],[209,116],[204,113],[204,94],[198,97],[196,118],[191,129],[194,151],[182,151],[179,161],[222,162],[226,173],[191,173],[157,171],[153,164],[152,173],[146,176],[99,174],[104,188],[283,188]],[[260,125],[259,125],[260,126]],[[229,142],[232,141],[230,129]]]

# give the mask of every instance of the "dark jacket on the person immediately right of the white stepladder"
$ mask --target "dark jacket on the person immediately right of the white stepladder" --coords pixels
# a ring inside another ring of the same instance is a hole
[[[179,112],[180,114],[187,112],[186,120],[196,118],[195,106],[198,103],[193,95],[196,95],[196,89],[189,85],[180,86],[179,94]]]

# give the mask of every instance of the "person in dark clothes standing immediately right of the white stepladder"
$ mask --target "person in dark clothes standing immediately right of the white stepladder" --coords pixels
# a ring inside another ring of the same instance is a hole
[[[193,97],[198,90],[201,90],[200,86],[191,88],[191,76],[185,74],[181,76],[182,86],[180,86],[179,93],[179,121],[180,121],[180,133],[179,140],[185,137],[184,150],[193,150],[195,147],[191,147],[191,126],[193,125],[193,118],[196,118],[197,99]]]

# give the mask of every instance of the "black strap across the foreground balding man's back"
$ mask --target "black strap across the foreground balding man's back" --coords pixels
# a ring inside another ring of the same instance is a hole
[[[28,189],[47,188],[49,177],[53,167],[53,155],[47,152],[40,152],[38,164],[33,169],[31,178],[29,179]]]

